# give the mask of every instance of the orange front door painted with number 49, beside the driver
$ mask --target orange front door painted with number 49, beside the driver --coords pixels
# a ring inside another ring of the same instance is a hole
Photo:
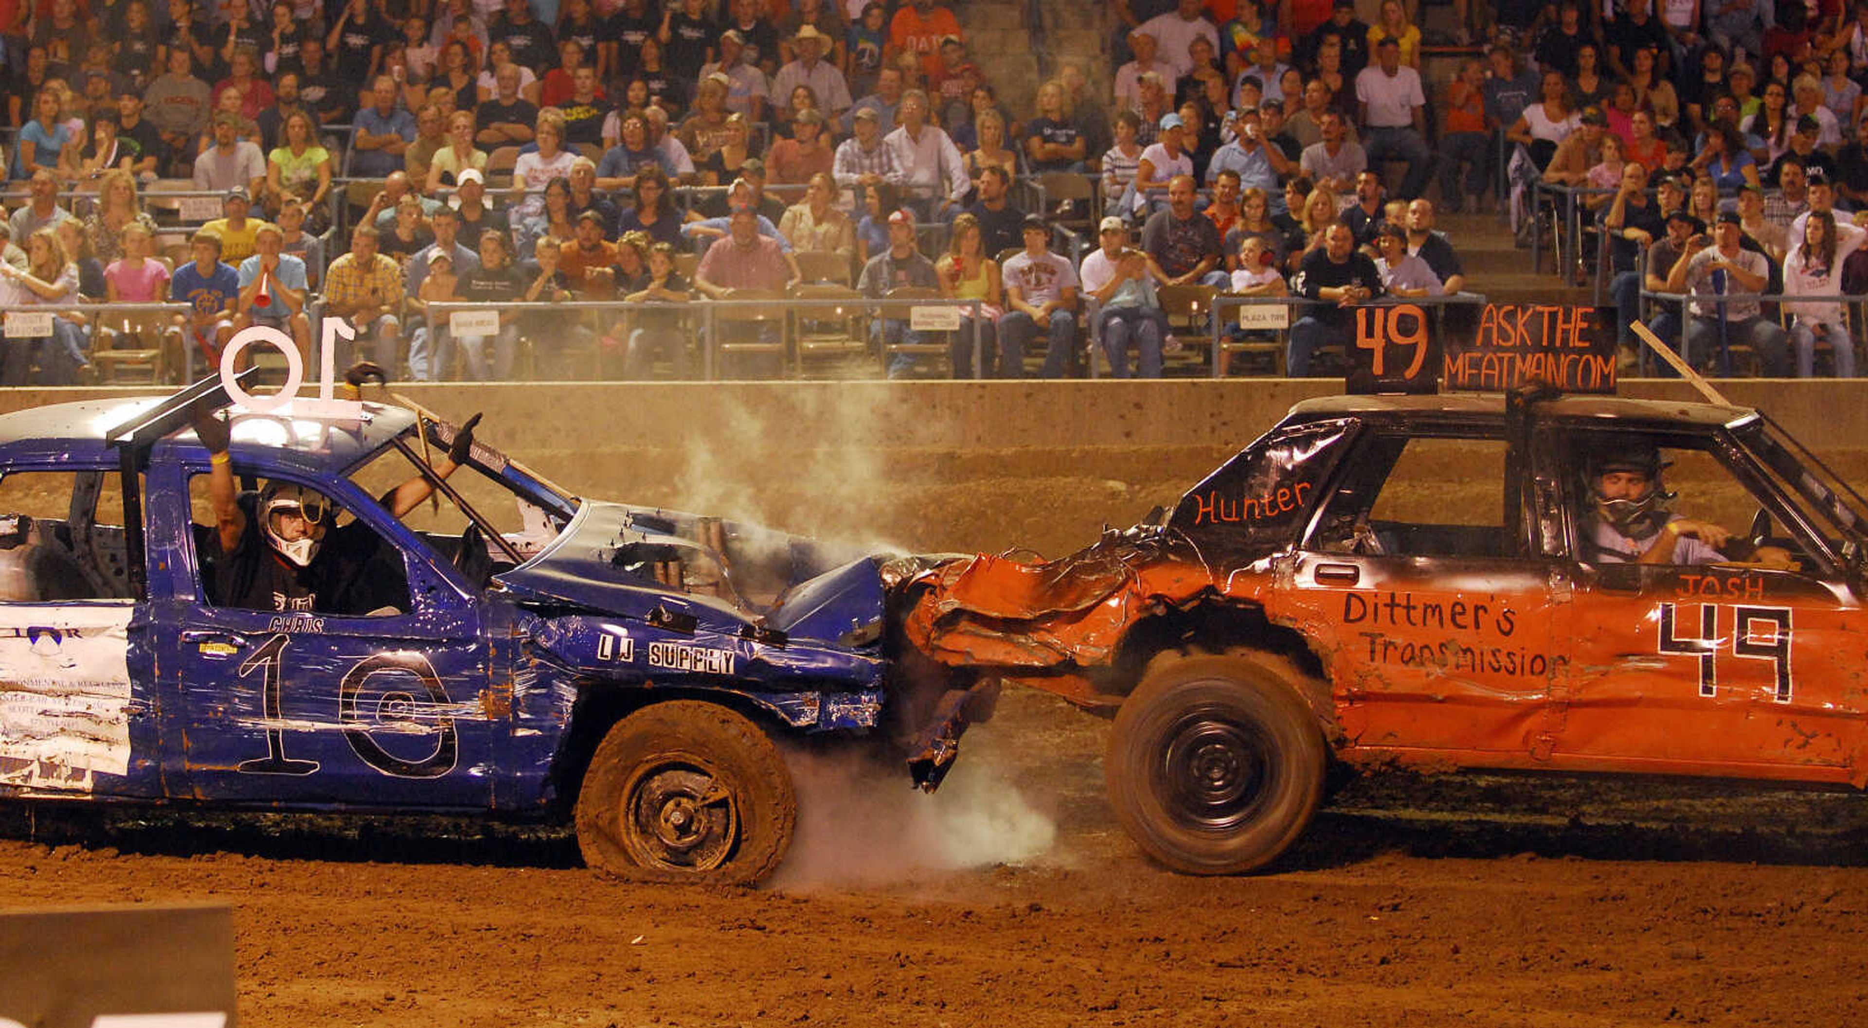
[[[1631,433],[1616,433],[1616,440]],[[1771,543],[1799,567],[1620,563],[1592,552],[1588,453],[1573,429],[1541,455],[1562,483],[1571,560],[1569,675],[1554,759],[1582,769],[1842,780],[1862,746],[1864,625],[1812,515],[1722,427],[1633,433],[1655,444],[1672,513]],[[1857,772],[1861,774],[1861,772]]]

